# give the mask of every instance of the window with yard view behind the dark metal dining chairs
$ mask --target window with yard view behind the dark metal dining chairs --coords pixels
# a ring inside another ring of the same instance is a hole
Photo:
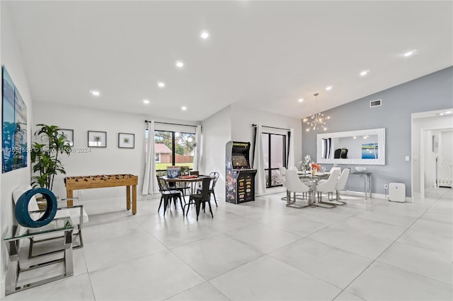
[[[164,172],[167,166],[193,167],[195,134],[178,131],[154,131],[156,172]],[[159,156],[159,160],[158,160]]]

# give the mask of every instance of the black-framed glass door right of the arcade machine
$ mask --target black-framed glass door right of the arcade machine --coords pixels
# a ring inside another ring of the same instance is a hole
[[[278,167],[286,167],[286,136],[263,133],[263,154],[266,187],[281,186]]]

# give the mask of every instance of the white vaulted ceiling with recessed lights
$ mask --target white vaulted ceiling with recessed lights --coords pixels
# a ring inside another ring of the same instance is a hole
[[[453,65],[452,1],[6,2],[38,101],[303,118]]]

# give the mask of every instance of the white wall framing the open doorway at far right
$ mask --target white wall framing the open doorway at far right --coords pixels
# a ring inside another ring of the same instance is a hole
[[[412,192],[413,196],[420,195],[420,150],[422,149],[420,134],[429,129],[451,129],[452,115],[437,117],[420,117],[412,121]],[[423,139],[425,140],[425,139]],[[422,152],[423,153],[423,152]]]

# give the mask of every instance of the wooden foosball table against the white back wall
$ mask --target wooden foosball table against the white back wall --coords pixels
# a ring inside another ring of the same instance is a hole
[[[126,208],[127,210],[130,210],[132,203],[132,214],[135,214],[137,213],[137,184],[138,177],[136,175],[94,175],[65,177],[64,185],[66,186],[66,195],[69,199],[67,201],[67,206],[73,205],[71,199],[73,197],[73,190],[125,186]]]

